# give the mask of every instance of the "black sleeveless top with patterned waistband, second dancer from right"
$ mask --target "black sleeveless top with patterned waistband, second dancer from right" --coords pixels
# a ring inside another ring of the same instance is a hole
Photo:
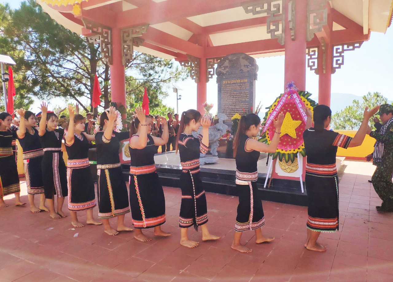
[[[261,153],[259,151],[246,151],[249,139],[245,134],[239,135],[239,146],[236,151],[236,178],[244,181],[256,181],[258,178],[257,162]]]

